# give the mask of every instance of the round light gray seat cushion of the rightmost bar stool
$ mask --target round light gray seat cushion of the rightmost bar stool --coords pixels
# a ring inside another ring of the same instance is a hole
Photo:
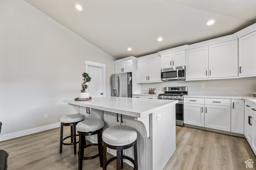
[[[137,139],[137,131],[129,126],[112,126],[103,131],[102,139],[113,146],[124,146]]]

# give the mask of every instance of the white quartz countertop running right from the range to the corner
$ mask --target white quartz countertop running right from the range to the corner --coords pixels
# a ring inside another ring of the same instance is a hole
[[[185,98],[215,98],[215,99],[243,99],[256,105],[256,97],[254,96],[222,96],[222,95],[185,95]]]

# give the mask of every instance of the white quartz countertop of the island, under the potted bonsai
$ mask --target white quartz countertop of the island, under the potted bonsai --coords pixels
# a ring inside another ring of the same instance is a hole
[[[87,101],[63,100],[64,103],[95,108],[124,115],[143,117],[178,103],[177,100],[158,100],[123,97],[100,97]]]

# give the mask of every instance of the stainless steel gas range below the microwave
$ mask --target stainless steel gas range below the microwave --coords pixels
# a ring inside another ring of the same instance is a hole
[[[188,87],[165,87],[163,94],[158,94],[158,99],[178,100],[176,103],[176,125],[183,126],[183,96],[188,95]]]

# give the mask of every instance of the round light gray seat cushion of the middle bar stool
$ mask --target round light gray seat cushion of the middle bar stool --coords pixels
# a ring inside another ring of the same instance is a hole
[[[91,132],[103,128],[104,121],[101,119],[88,119],[83,120],[77,124],[79,132]]]

